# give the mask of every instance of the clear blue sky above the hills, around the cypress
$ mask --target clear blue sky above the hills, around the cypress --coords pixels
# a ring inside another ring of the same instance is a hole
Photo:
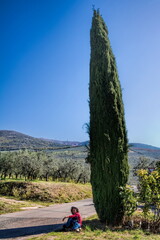
[[[117,60],[129,141],[160,147],[160,0],[0,0],[0,129],[88,139],[93,4]]]

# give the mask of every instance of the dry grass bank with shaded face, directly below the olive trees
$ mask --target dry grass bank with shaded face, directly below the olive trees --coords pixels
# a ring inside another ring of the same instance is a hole
[[[0,194],[48,203],[72,202],[92,196],[90,184],[25,181],[2,181]]]

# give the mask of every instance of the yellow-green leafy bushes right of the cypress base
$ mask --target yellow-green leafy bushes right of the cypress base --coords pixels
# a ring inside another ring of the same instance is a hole
[[[120,189],[125,210],[123,224],[131,229],[138,227],[160,233],[160,161],[153,171],[139,169],[136,174],[139,180],[137,194],[129,187]],[[136,216],[138,206],[142,215],[140,211]]]

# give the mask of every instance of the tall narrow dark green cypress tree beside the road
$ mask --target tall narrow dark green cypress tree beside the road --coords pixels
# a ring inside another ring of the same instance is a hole
[[[122,91],[108,30],[94,10],[90,58],[90,154],[93,201],[102,222],[119,225],[124,210],[120,186],[128,179],[128,139]]]

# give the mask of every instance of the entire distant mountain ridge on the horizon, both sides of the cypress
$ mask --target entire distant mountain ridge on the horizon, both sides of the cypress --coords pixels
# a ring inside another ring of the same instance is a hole
[[[13,130],[0,130],[0,151],[20,149],[57,149],[88,145],[89,141],[62,141],[47,138],[36,138]],[[130,143],[130,149],[160,150],[148,144]]]

